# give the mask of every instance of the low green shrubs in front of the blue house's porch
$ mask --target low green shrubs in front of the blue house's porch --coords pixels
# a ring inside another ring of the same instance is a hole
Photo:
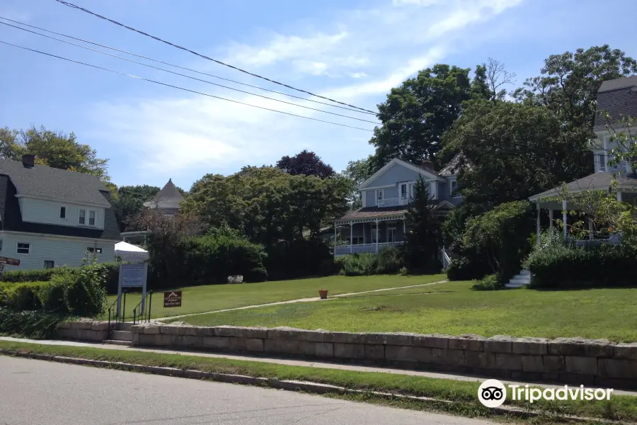
[[[401,251],[384,246],[378,254],[348,254],[338,257],[336,263],[345,276],[370,276],[398,273],[403,267]]]

